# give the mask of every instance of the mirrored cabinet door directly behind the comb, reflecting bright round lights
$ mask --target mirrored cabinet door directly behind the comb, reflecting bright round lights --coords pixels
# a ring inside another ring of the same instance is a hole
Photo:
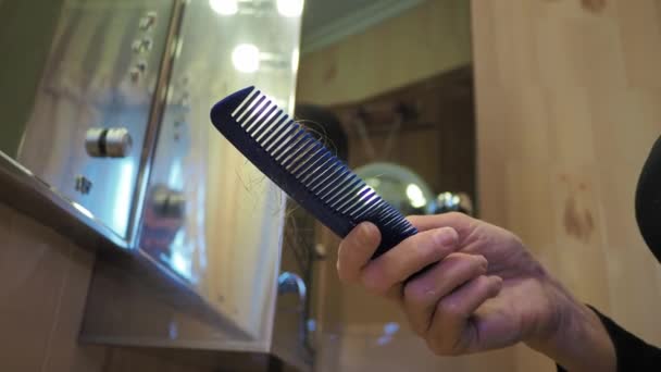
[[[300,7],[186,2],[140,211],[142,252],[255,340],[271,335],[285,197],[217,133],[209,111],[250,85],[294,109]]]

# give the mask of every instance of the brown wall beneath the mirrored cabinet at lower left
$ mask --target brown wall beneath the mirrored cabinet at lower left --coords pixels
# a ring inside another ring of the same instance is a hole
[[[263,370],[213,351],[80,345],[93,263],[92,253],[0,203],[0,371]]]

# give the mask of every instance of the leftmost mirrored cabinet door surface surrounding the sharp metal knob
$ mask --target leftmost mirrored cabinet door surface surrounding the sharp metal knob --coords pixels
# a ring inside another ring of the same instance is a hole
[[[15,158],[125,239],[172,10],[173,0],[64,1]],[[96,127],[126,128],[134,146],[91,157]]]

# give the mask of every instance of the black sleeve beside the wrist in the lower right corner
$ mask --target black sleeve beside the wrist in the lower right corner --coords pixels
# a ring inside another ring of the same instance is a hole
[[[601,323],[603,323],[606,331],[613,340],[618,358],[618,372],[661,371],[661,349],[628,333],[597,309],[593,307],[590,309],[599,315]],[[558,371],[566,372],[560,365],[558,365]]]

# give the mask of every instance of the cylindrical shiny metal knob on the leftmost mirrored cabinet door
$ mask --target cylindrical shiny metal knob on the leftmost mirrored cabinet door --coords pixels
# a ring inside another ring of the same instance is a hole
[[[126,158],[133,138],[126,128],[91,128],[85,136],[85,149],[93,158]]]

